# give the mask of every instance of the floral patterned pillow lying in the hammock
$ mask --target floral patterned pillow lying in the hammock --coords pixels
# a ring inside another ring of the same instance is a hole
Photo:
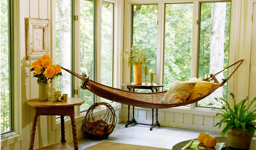
[[[175,80],[159,103],[172,104],[186,101],[195,87],[196,82]]]

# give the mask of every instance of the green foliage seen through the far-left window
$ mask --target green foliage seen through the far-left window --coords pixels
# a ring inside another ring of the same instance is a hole
[[[1,0],[1,133],[10,128],[10,84],[9,84],[9,46],[8,46],[8,0]]]

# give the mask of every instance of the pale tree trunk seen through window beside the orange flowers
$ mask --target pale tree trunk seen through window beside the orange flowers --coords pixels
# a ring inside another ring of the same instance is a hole
[[[61,66],[70,69],[70,5],[68,0],[58,1]],[[70,93],[70,73],[62,71],[60,91]]]

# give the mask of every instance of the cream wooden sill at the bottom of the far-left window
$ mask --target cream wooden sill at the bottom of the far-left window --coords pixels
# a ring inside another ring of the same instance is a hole
[[[5,137],[8,137],[8,139],[1,138],[1,147],[24,140],[24,137],[21,134],[17,134],[16,132],[5,134]]]

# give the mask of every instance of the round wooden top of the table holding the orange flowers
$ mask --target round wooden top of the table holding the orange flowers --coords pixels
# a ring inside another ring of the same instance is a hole
[[[48,101],[39,101],[39,98],[31,99],[27,101],[27,104],[33,107],[71,107],[76,105],[81,105],[84,103],[84,99],[82,98],[67,98],[66,101],[52,101],[52,98],[48,98]]]

